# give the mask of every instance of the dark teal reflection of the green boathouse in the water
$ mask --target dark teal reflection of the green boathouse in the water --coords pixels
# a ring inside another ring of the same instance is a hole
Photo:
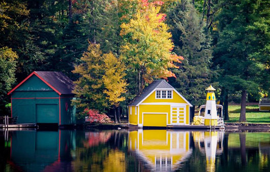
[[[74,139],[72,130],[14,132],[10,164],[23,171],[71,170],[71,150],[76,147]]]

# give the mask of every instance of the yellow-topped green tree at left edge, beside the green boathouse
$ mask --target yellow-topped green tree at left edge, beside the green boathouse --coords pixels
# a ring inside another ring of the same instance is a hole
[[[8,103],[7,93],[16,81],[15,70],[18,56],[11,48],[0,48],[0,113],[4,114]]]

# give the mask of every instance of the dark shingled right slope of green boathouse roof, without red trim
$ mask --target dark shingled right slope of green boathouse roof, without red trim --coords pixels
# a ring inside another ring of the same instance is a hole
[[[49,83],[53,88],[61,94],[73,94],[73,82],[62,72],[43,72],[35,71],[42,79]]]

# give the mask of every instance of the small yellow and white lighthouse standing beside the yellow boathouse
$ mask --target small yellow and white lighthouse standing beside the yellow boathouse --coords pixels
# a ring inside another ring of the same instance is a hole
[[[215,105],[215,89],[210,85],[205,89],[206,94],[206,106],[204,113],[204,125],[218,125],[217,106]]]

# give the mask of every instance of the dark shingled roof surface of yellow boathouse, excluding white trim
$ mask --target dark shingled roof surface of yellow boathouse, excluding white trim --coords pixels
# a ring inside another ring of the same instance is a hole
[[[133,98],[130,102],[129,106],[136,106],[140,101],[144,99],[151,91],[156,88],[173,88],[170,84],[168,84],[165,80],[154,80],[150,85],[148,85],[142,92],[142,94]]]

